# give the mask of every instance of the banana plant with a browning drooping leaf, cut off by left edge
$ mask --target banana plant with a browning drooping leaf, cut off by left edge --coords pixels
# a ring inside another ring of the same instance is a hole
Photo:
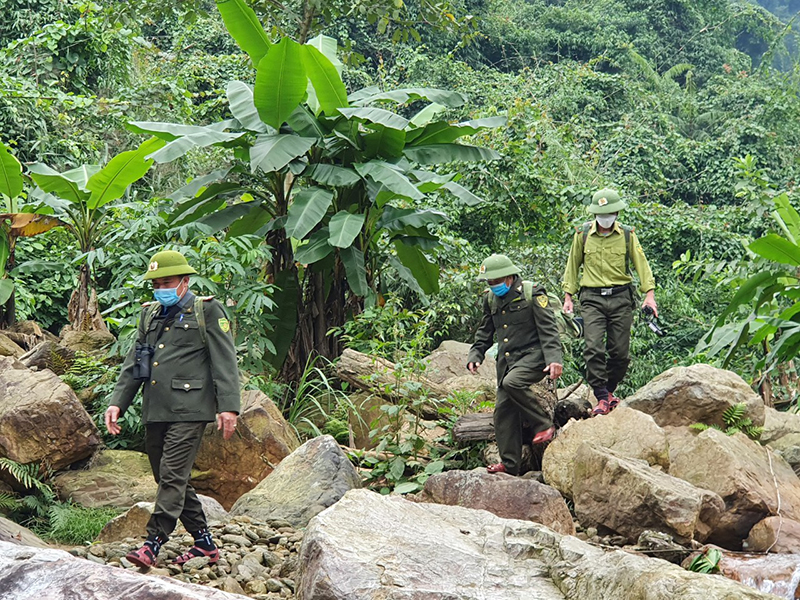
[[[16,312],[11,271],[16,262],[17,238],[38,235],[63,224],[48,215],[17,212],[23,186],[22,165],[11,149],[0,142],[0,197],[6,210],[0,214],[0,305],[3,307],[0,324],[3,326],[14,322]]]

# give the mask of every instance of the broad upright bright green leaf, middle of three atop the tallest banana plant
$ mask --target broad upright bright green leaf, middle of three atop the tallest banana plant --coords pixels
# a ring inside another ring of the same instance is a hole
[[[283,38],[258,63],[253,101],[261,120],[280,129],[306,95],[303,48]]]

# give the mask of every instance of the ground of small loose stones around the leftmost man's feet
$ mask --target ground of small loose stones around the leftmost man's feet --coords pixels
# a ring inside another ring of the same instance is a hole
[[[183,530],[164,544],[156,568],[146,571],[125,559],[143,539],[129,537],[121,542],[72,548],[70,553],[97,564],[172,577],[258,600],[294,598],[301,530],[279,519],[263,522],[243,516],[210,529],[220,548],[220,560],[215,565],[209,565],[207,558],[194,558],[182,567],[171,564],[192,546],[192,536]]]

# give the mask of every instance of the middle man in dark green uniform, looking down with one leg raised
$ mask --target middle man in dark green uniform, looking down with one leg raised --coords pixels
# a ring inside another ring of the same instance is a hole
[[[492,254],[481,264],[478,281],[489,290],[483,300],[483,319],[467,357],[467,369],[476,373],[497,333],[497,401],[494,431],[502,462],[490,473],[519,474],[522,460],[522,419],[536,435],[534,444],[550,441],[553,420],[539,405],[531,385],[545,374],[561,376],[561,340],[553,309],[541,286],[522,281],[520,269],[507,256]]]

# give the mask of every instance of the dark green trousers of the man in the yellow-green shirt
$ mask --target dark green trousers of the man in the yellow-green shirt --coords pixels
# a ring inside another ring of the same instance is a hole
[[[586,382],[592,389],[617,389],[631,362],[633,290],[613,296],[582,289],[580,294],[583,337],[586,349]],[[608,353],[608,358],[606,358]]]

